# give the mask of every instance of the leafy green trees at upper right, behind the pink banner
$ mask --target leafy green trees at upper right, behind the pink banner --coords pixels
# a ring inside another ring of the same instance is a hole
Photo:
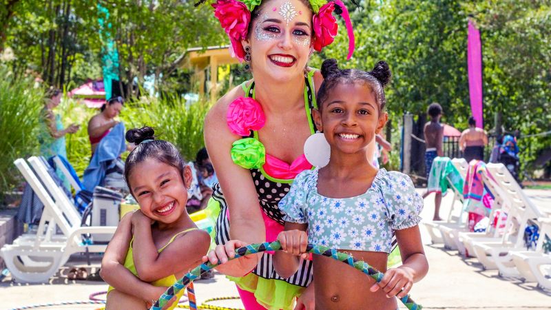
[[[335,58],[342,67],[371,70],[377,61],[387,61],[393,74],[386,88],[393,133],[404,112],[422,115],[434,101],[444,108],[444,123],[467,127],[471,15],[483,45],[485,129],[501,127],[494,116],[502,114],[503,130],[520,130],[522,163],[551,146],[549,136],[522,138],[551,130],[551,1],[366,0],[362,8],[349,9],[356,39],[351,61],[341,24],[335,43],[311,65],[319,68],[322,59]]]

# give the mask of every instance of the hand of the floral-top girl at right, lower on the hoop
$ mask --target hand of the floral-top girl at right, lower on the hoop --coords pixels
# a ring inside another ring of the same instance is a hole
[[[375,283],[371,289],[372,292],[378,291],[379,288],[386,293],[387,298],[396,296],[397,298],[403,298],[406,296],[413,285],[413,274],[408,268],[388,269],[384,273],[384,277],[381,282]]]

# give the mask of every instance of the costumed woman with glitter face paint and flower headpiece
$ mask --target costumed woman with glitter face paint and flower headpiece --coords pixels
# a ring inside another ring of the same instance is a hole
[[[219,211],[218,246],[209,253],[211,261],[225,262],[241,246],[230,239],[271,241],[283,229],[278,202],[295,176],[312,167],[303,147],[316,130],[311,112],[322,76],[306,63],[314,49],[333,42],[333,10],[348,17],[337,2],[218,0],[213,5],[233,52],[250,66],[253,80],[225,94],[205,119],[205,143],[220,182],[209,203]],[[351,35],[349,19],[346,25]],[[353,37],[349,48],[351,56]],[[218,270],[239,277],[231,280],[247,310],[292,309],[296,296],[297,309],[313,309],[309,260],[287,279],[275,273],[271,254],[232,260]]]

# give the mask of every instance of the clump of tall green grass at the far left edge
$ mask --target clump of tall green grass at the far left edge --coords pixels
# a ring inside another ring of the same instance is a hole
[[[43,92],[32,79],[14,79],[0,63],[0,196],[17,185],[20,174],[13,162],[37,152],[34,129],[38,125]]]

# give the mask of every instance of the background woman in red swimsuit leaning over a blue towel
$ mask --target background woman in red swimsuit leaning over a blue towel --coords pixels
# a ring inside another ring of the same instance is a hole
[[[115,117],[123,110],[124,99],[121,96],[109,99],[101,106],[101,112],[90,118],[88,121],[88,137],[92,145],[92,154],[96,150],[99,141],[111,131],[111,128],[118,124]]]

